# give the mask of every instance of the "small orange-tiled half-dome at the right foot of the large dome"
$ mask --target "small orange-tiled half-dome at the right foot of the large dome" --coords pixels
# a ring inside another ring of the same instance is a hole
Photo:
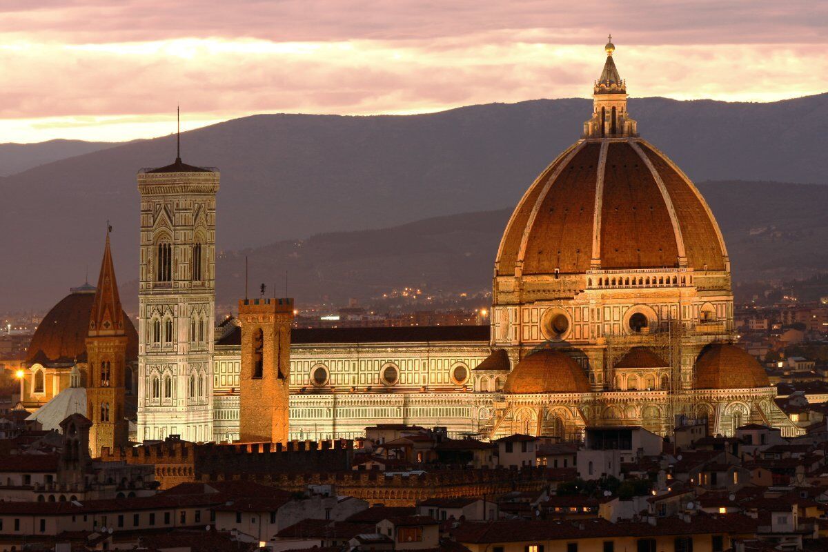
[[[743,348],[711,343],[696,359],[696,389],[768,387],[768,373]]]

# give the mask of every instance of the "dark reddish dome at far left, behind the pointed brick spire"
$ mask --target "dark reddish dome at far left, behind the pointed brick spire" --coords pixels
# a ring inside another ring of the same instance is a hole
[[[94,286],[72,289],[51,308],[31,336],[26,362],[34,364],[72,364],[86,359],[86,336],[95,299]],[[138,358],[138,334],[126,313],[127,362]]]

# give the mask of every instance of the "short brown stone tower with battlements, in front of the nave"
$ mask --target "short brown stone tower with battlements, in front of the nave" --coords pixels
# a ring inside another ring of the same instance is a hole
[[[242,441],[288,441],[292,321],[292,299],[238,301],[242,328],[238,417]]]

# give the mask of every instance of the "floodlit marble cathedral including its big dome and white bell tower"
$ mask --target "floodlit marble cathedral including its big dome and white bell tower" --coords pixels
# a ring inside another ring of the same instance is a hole
[[[750,422],[802,432],[732,344],[718,224],[639,137],[606,51],[583,137],[503,232],[491,327],[292,330],[289,438],[354,437],[378,422],[484,438],[580,437],[589,425],[668,434],[681,418],[704,418],[714,434]],[[218,187],[218,172],[180,159],[138,176],[138,439],[240,437],[241,331],[213,338]]]

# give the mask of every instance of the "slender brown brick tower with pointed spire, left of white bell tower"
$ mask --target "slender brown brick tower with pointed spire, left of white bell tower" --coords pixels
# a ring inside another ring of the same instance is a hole
[[[107,227],[98,289],[92,303],[86,338],[89,363],[86,414],[92,422],[89,450],[95,457],[100,455],[102,447],[113,449],[126,446],[129,432],[127,420],[123,417],[127,334],[109,249],[109,229]]]

